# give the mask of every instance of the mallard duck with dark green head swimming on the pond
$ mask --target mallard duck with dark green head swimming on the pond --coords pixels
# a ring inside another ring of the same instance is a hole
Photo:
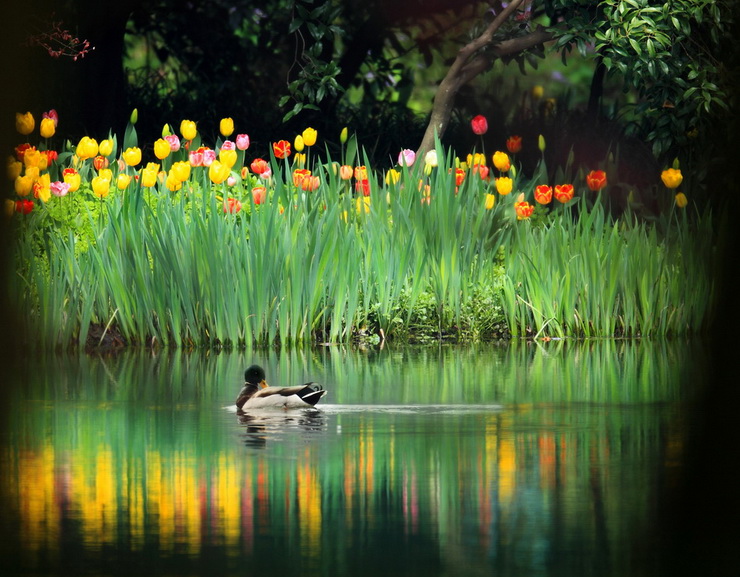
[[[318,383],[306,383],[297,387],[270,387],[265,380],[265,371],[252,365],[244,371],[244,386],[236,397],[236,408],[244,409],[300,409],[313,407],[326,391]]]

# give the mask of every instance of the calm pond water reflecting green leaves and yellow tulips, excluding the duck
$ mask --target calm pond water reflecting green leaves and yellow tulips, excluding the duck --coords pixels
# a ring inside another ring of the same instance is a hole
[[[9,389],[23,575],[656,575],[706,351],[593,341],[40,356]],[[238,415],[244,368],[318,409]],[[13,386],[14,385],[14,386]]]

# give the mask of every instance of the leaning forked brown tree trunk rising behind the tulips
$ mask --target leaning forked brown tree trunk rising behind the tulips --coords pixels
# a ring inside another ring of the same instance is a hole
[[[479,52],[481,48],[491,43],[491,39],[496,31],[522,2],[523,0],[514,0],[511,2],[478,38],[463,46],[457,53],[455,61],[450,66],[434,96],[432,114],[424,137],[417,150],[417,156],[423,156],[434,148],[435,137],[442,138],[450,122],[450,116],[452,115],[452,109],[455,105],[455,97],[458,91],[462,86],[490,67],[491,56],[488,54],[492,55],[492,57],[500,58],[505,55],[522,52],[527,48],[552,39],[550,32],[538,26],[526,36],[512,38],[511,40],[496,44],[488,51],[488,54]]]

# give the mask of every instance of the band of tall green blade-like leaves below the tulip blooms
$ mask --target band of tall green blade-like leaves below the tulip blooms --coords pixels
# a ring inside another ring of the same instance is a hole
[[[485,332],[490,311],[514,336],[706,327],[718,258],[711,214],[654,225],[582,202],[577,215],[566,207],[532,226],[515,219],[514,194],[487,210],[491,182],[471,171],[456,182],[452,151],[438,143],[436,152],[438,166],[403,167],[397,181],[368,171],[367,197],[327,154],[313,156],[322,184],[310,192],[271,158],[261,204],[256,177],[214,185],[196,167],[177,192],[132,182],[78,202],[62,224],[34,212],[16,239],[12,304],[28,311],[26,334],[43,348],[84,344],[92,324],[183,348],[408,336],[429,303],[423,322],[437,336]],[[343,154],[367,163],[354,139]],[[239,212],[225,210],[232,196]]]

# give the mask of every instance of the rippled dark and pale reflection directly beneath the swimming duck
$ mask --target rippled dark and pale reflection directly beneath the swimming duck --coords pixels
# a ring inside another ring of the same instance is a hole
[[[318,409],[237,411],[237,420],[245,429],[244,444],[258,449],[265,448],[268,441],[326,430],[326,415]]]

